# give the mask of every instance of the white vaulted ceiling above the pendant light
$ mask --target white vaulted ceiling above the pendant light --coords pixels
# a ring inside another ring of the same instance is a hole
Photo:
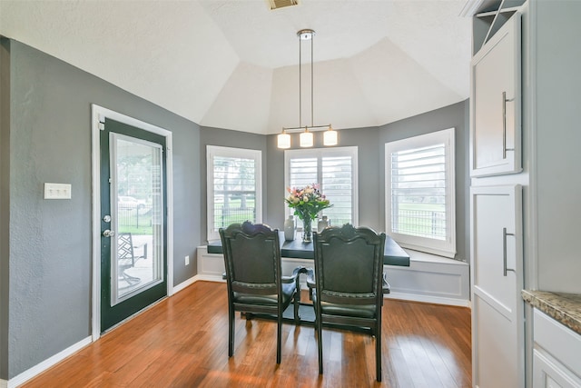
[[[466,0],[0,0],[0,35],[197,124],[389,124],[468,98]],[[302,43],[299,118],[299,39]],[[110,107],[114,109],[113,107]]]

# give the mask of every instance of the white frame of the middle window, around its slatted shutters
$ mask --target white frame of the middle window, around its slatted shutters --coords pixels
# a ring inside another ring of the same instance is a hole
[[[296,155],[300,155],[300,157],[309,158],[309,157],[316,157],[318,160],[317,163],[317,175],[319,182],[313,182],[316,184],[321,184],[321,192],[325,194],[325,188],[322,185],[322,168],[320,161],[325,156],[331,155],[341,155],[341,156],[350,156],[351,158],[351,223],[353,225],[359,224],[359,168],[358,168],[358,147],[356,145],[352,146],[343,146],[343,147],[332,147],[332,148],[309,148],[309,149],[292,149],[292,150],[284,150],[284,188],[281,198],[286,198],[289,195],[287,188],[290,185],[290,162],[292,158],[297,158]],[[331,203],[332,204],[332,203]],[[285,219],[289,217],[289,215],[294,214],[294,211],[285,204]],[[325,213],[325,210],[322,211]],[[331,220],[332,223],[332,220]]]

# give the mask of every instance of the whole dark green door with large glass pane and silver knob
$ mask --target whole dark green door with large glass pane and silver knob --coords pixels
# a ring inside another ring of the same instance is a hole
[[[167,295],[165,138],[101,131],[101,332]]]

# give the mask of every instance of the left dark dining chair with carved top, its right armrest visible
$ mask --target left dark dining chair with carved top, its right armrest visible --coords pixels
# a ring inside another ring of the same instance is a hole
[[[228,356],[234,353],[235,312],[270,314],[277,321],[276,363],[281,363],[282,313],[294,302],[295,321],[299,316],[299,268],[282,276],[278,229],[247,221],[219,232],[228,288]]]

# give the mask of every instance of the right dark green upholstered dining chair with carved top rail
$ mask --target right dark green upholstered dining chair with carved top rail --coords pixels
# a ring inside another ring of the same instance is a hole
[[[314,234],[312,299],[319,373],[323,373],[322,328],[330,323],[345,329],[369,329],[375,336],[376,379],[381,381],[384,246],[385,234],[365,226],[330,226]]]

